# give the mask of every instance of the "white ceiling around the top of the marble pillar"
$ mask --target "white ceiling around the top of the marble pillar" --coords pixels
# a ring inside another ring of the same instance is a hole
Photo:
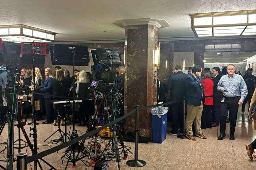
[[[195,37],[188,14],[256,9],[256,0],[1,0],[0,25],[58,33],[56,41],[124,40],[117,20],[153,18],[171,26],[159,38]]]

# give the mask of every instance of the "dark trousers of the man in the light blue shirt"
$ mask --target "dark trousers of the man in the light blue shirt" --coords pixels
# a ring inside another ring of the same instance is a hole
[[[229,118],[230,118],[230,133],[235,133],[235,125],[236,125],[236,118],[237,118],[237,111],[238,111],[238,101],[240,97],[225,97],[224,102],[220,104],[220,133],[225,133],[226,130],[226,117],[228,115],[229,109]]]

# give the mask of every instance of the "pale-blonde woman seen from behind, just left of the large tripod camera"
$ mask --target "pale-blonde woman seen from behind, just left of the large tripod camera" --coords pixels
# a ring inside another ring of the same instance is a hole
[[[76,86],[76,90],[75,93],[78,94],[79,92],[79,84],[80,83],[90,83],[90,78],[87,75],[87,73],[82,70],[79,74],[78,74],[78,82],[77,82],[77,86]],[[77,126],[86,126],[86,121],[85,121],[85,117],[86,120],[88,121],[91,115],[91,112],[89,111],[90,108],[90,101],[82,101],[80,107],[79,107],[79,111],[78,111],[78,117],[81,118],[81,123]]]

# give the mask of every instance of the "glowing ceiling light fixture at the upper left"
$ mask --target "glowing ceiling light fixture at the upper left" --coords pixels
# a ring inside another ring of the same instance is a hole
[[[55,35],[46,30],[37,29],[27,25],[0,25],[0,38],[3,41],[21,43],[21,42],[55,42]]]

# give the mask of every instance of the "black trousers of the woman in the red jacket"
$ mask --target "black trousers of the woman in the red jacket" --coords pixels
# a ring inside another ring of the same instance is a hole
[[[212,107],[210,105],[203,105],[201,128],[212,128]]]

